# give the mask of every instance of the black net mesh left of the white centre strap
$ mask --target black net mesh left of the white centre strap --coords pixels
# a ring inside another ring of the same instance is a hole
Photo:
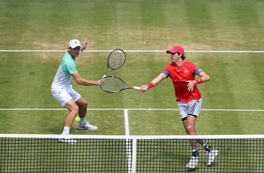
[[[0,172],[128,172],[131,140],[1,138]]]

